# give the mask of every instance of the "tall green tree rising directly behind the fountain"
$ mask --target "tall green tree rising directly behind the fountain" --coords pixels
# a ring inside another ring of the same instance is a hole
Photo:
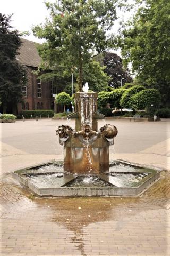
[[[44,69],[59,66],[66,72],[78,69],[79,91],[82,91],[83,68],[91,58],[111,46],[108,33],[116,19],[119,0],[56,0],[46,3],[50,19],[35,26],[34,34],[45,38],[39,47]],[[91,63],[91,62],[90,62]]]

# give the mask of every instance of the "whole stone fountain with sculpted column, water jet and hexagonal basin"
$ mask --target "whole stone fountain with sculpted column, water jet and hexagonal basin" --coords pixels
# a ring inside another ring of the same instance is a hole
[[[134,196],[160,177],[160,169],[109,161],[117,128],[105,124],[98,130],[98,93],[74,93],[75,130],[61,125],[56,130],[64,146],[64,162],[49,162],[13,172],[13,177],[40,196]]]

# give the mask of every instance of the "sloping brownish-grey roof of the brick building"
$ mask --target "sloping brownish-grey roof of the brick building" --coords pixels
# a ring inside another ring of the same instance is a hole
[[[39,67],[41,58],[38,55],[37,45],[40,44],[23,38],[21,38],[21,41],[22,46],[19,50],[20,54],[16,56],[16,59],[24,66]]]

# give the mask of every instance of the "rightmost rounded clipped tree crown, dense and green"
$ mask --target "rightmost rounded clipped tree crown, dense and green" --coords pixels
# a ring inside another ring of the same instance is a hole
[[[132,95],[130,101],[133,109],[155,108],[160,103],[160,93],[156,89],[145,89]]]

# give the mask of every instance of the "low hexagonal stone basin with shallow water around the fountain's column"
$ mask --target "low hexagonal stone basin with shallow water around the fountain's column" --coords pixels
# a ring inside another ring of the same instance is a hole
[[[40,196],[134,196],[160,177],[150,169],[125,161],[110,162],[98,175],[74,175],[61,162],[46,163],[13,172],[13,178]]]

